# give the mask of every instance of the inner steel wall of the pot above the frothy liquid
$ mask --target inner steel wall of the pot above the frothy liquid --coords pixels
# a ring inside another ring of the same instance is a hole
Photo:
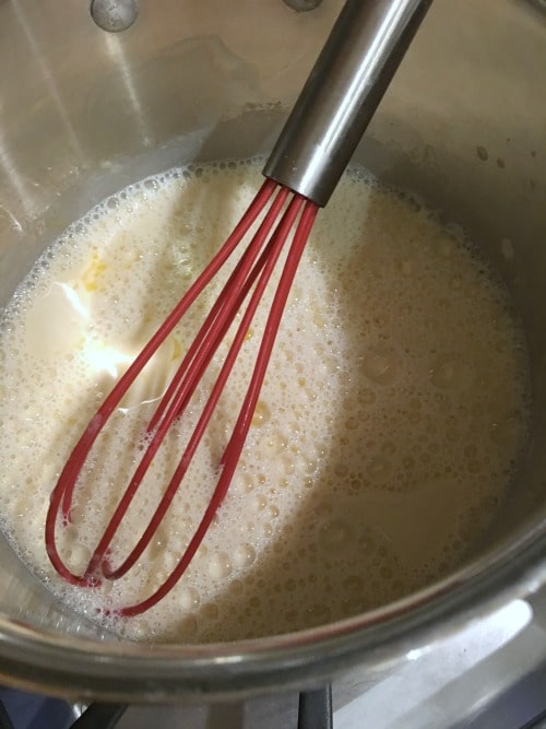
[[[141,5],[130,31],[109,35],[85,2],[0,3],[0,304],[46,245],[119,187],[181,162],[266,153],[341,2],[301,14],[282,0]],[[545,67],[544,16],[530,3],[436,0],[357,152],[468,230],[524,322],[533,434],[488,549],[544,516]],[[0,554],[7,615],[104,637],[5,544]]]

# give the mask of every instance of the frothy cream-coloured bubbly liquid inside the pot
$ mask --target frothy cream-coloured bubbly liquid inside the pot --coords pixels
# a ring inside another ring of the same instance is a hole
[[[259,168],[176,169],[106,200],[46,251],[3,315],[1,527],[51,590],[94,620],[97,607],[147,597],[188,543],[266,307],[180,493],[127,577],[92,590],[56,575],[44,542],[49,493],[104,395],[248,207]],[[198,301],[199,315],[214,295]],[[73,525],[58,530],[73,569],[85,567],[128,482],[143,423],[198,318],[169,337],[94,451]],[[131,638],[237,639],[353,615],[440,578],[472,552],[503,498],[527,398],[522,331],[464,236],[412,196],[347,174],[304,254],[215,524],[157,607],[103,620]],[[198,404],[154,461],[112,545],[115,564],[147,524]]]

